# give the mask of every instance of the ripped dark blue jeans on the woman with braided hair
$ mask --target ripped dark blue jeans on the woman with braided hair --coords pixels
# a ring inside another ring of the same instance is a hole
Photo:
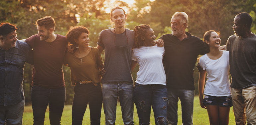
[[[154,111],[155,124],[167,125],[167,88],[166,85],[141,85],[136,83],[133,100],[137,108],[140,125],[150,124],[151,106]]]

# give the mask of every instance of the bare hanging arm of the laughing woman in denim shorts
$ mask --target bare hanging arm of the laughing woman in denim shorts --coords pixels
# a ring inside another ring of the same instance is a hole
[[[200,106],[202,108],[205,108],[205,105],[202,103],[203,101],[203,89],[204,89],[204,81],[205,81],[205,74],[206,74],[206,71],[205,70],[202,70],[200,73],[199,73],[199,81],[198,81],[198,90],[199,90],[199,102],[200,102]]]

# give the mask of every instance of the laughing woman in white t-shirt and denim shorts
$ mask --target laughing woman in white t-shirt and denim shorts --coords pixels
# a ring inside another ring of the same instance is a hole
[[[221,40],[219,34],[213,30],[205,32],[203,41],[209,46],[210,52],[200,57],[199,61],[203,69],[199,75],[200,105],[207,109],[211,125],[228,125],[229,110],[232,106],[229,53],[219,50]],[[207,81],[204,88],[206,72]]]

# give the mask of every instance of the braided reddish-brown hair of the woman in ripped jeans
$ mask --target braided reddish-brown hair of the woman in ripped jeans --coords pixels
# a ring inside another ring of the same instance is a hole
[[[135,47],[139,48],[139,46],[142,45],[142,40],[140,39],[142,36],[145,35],[145,32],[150,29],[151,27],[149,25],[139,25],[134,28],[134,38],[135,38]]]

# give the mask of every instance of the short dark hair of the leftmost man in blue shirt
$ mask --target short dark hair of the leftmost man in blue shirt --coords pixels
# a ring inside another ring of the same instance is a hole
[[[8,35],[9,33],[16,31],[18,28],[8,22],[0,24],[0,36]]]

